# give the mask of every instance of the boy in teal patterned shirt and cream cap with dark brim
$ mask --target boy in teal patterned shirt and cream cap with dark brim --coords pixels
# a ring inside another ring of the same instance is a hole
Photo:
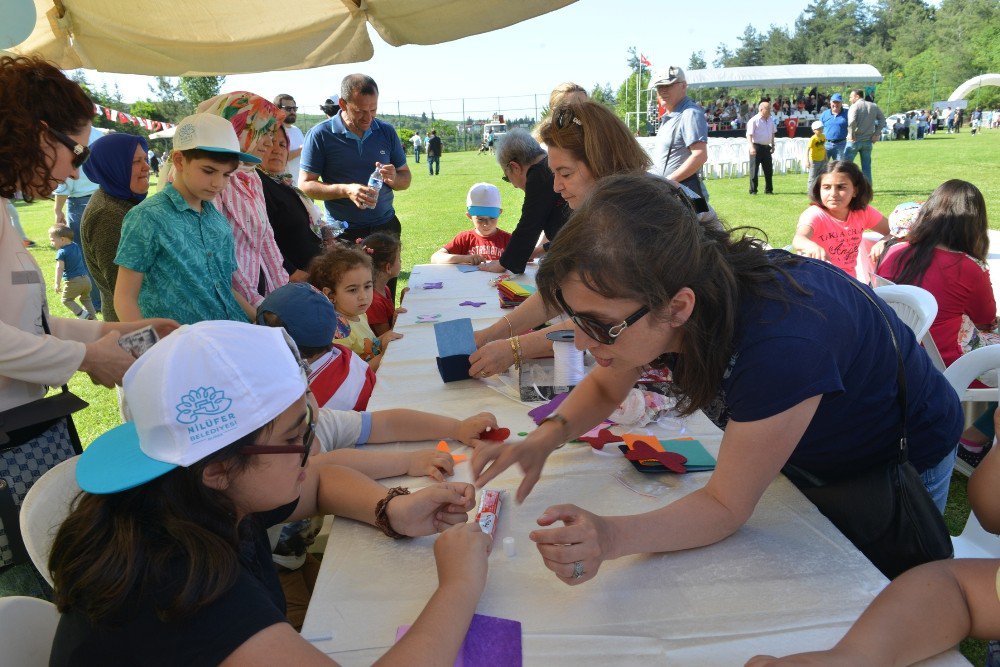
[[[174,181],[125,216],[115,264],[115,310],[122,322],[167,317],[181,324],[253,320],[233,289],[233,231],[212,204],[242,162],[233,126],[194,114],[174,134]],[[155,314],[154,314],[155,313]]]

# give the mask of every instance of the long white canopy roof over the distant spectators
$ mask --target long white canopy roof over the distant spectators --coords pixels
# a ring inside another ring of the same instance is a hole
[[[882,81],[882,75],[871,65],[725,67],[694,69],[685,74],[688,88],[775,88]]]

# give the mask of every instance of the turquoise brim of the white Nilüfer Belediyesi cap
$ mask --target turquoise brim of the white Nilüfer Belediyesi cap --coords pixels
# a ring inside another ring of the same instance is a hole
[[[83,451],[76,464],[76,483],[87,493],[118,493],[166,475],[176,467],[146,456],[139,447],[135,424],[126,422]]]

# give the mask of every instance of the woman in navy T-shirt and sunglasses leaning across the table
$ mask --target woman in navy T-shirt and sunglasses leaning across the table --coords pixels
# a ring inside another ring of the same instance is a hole
[[[667,181],[602,181],[559,233],[537,282],[545,302],[572,318],[577,347],[598,366],[523,441],[477,447],[477,485],[517,464],[523,501],[548,455],[611,414],[648,366],[673,370],[682,414],[702,410],[724,430],[708,483],[670,505],[618,517],[548,508],[538,523],[565,525],[530,537],[566,583],[590,579],[608,559],[725,539],[788,464],[803,477],[834,480],[898,454],[895,346],[860,284],[818,261],[706,228]],[[932,495],[946,494],[963,423],[958,397],[910,329],[881,310],[905,368],[909,460]],[[872,510],[888,521],[891,508]],[[929,520],[939,525],[940,517]]]

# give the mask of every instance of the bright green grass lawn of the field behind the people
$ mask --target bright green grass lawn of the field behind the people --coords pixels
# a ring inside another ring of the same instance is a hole
[[[941,182],[962,178],[982,190],[990,226],[1000,228],[997,155],[1000,155],[1000,131],[996,130],[978,136],[938,134],[923,141],[879,143],[873,153],[875,200],[872,203],[888,215],[897,204],[922,201]],[[431,253],[469,226],[465,193],[473,183],[496,184],[504,203],[501,227],[510,231],[517,223],[523,194],[500,180],[500,169],[492,156],[474,152],[446,154],[441,158],[441,174],[434,177],[428,175],[425,162],[411,163],[410,168],[413,184],[396,197],[396,210],[403,224],[401,283],[405,284],[409,267],[429,261]],[[799,214],[808,205],[806,174],[775,176],[773,196],[750,197],[747,188],[745,178],[708,181],[711,203],[730,226],[759,227],[774,246],[790,243]],[[55,252],[47,247],[46,230],[53,221],[52,202],[40,201],[30,206],[18,203],[17,208],[25,231],[39,243],[33,254],[51,285]],[[51,292],[49,306],[55,315],[70,316]],[[90,403],[89,408],[76,416],[84,444],[119,423],[114,392],[95,387],[83,374],[74,376],[70,388]],[[968,514],[965,478],[956,475],[946,515],[954,534],[961,531]],[[965,642],[962,649],[974,664],[982,664],[984,642]]]

